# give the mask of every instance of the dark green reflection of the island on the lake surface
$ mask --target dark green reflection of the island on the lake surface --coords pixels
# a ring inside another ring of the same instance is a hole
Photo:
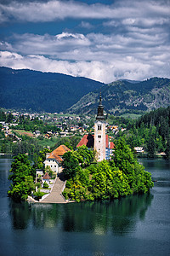
[[[17,204],[10,201],[12,225],[15,230],[50,229],[66,232],[91,232],[98,235],[123,236],[144,220],[153,195],[133,195],[110,202],[71,204]]]

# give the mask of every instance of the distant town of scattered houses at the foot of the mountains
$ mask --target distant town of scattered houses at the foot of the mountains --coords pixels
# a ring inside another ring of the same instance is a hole
[[[11,116],[11,122],[0,121],[1,131],[4,132],[5,137],[11,138],[13,143],[21,141],[22,136],[43,137],[50,140],[55,137],[83,136],[88,132],[94,133],[94,116],[90,115],[78,116],[64,113],[27,113],[18,111],[4,111],[4,113],[6,116]],[[56,131],[54,131],[54,129],[46,132],[39,130],[20,130],[20,117],[29,120],[38,119],[42,121],[43,124],[48,124],[52,129],[55,126]],[[112,140],[119,131],[126,130],[126,128],[119,125],[111,125],[110,123],[106,123],[105,129],[110,136],[110,140]]]

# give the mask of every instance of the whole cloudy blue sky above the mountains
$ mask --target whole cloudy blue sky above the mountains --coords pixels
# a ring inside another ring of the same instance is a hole
[[[0,67],[170,79],[170,0],[0,0]]]

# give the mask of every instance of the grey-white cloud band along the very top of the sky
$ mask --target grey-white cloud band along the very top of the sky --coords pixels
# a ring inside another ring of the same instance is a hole
[[[168,2],[167,2],[168,3]],[[120,19],[120,17],[169,16],[170,6],[159,1],[116,1],[111,5],[81,3],[76,1],[15,2],[0,4],[1,22],[5,20],[53,21],[65,18]]]

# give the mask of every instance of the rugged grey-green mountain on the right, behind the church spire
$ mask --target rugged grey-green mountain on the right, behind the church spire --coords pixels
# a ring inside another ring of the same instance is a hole
[[[145,81],[118,80],[102,86],[102,102],[106,113],[138,113],[170,105],[170,79]],[[83,96],[70,109],[71,113],[95,113],[99,90]]]

